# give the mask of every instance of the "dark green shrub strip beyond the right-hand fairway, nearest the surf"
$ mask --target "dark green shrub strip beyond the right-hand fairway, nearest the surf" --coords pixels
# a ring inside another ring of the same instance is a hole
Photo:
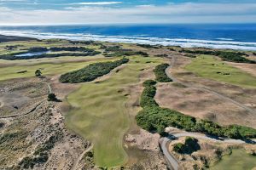
[[[236,62],[236,63],[249,63],[255,64],[256,62],[250,59],[247,59],[243,56],[248,56],[246,53],[241,52],[230,52],[230,51],[206,51],[206,50],[189,50],[182,49],[179,51],[180,53],[188,53],[188,54],[207,54],[207,55],[216,55],[224,61]]]

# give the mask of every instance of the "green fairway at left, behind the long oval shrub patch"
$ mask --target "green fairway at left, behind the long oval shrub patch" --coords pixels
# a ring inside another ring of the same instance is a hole
[[[89,59],[90,57],[88,57]],[[68,59],[68,58],[67,58]],[[2,59],[3,60],[3,59]],[[29,59],[30,60],[30,59]],[[68,71],[74,71],[83,68],[86,65],[89,65],[91,63],[95,62],[102,62],[102,61],[108,61],[108,60],[115,60],[110,58],[92,58],[90,61],[78,61],[78,62],[70,62],[70,61],[62,61],[59,59],[59,63],[46,63],[48,59],[41,59],[40,61],[42,63],[37,63],[37,61],[32,60],[33,62],[27,65],[23,65],[24,62],[29,62],[29,60],[15,60],[15,61],[9,61],[9,66],[1,67],[0,65],[0,81],[3,80],[9,80],[13,78],[21,78],[21,77],[33,77],[35,76],[35,71],[37,69],[41,69],[43,75],[55,75],[55,74],[61,74]],[[57,61],[57,59],[54,59]],[[18,62],[20,61],[20,65],[18,65]],[[1,63],[1,60],[0,60]],[[26,73],[17,73],[19,71],[27,71]]]

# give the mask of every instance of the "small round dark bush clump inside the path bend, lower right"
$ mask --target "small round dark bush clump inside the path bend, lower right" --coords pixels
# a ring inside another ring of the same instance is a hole
[[[180,154],[192,154],[200,149],[201,147],[198,144],[198,140],[191,137],[186,137],[185,144],[177,143],[173,146],[173,150]]]

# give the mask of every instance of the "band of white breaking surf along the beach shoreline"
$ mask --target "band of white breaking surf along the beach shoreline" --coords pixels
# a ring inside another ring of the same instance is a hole
[[[239,50],[256,51],[256,42],[236,42],[230,39],[220,40],[201,40],[186,38],[160,38],[143,36],[104,36],[82,33],[52,33],[38,31],[0,31],[0,34],[20,37],[35,37],[38,39],[60,38],[76,41],[100,41],[100,42],[128,42],[164,46],[181,46],[183,48],[230,48]]]

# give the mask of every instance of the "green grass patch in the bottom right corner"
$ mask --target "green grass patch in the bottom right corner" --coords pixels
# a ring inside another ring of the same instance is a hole
[[[210,170],[251,170],[256,167],[256,156],[246,153],[244,150],[232,150],[230,156],[224,156]]]

